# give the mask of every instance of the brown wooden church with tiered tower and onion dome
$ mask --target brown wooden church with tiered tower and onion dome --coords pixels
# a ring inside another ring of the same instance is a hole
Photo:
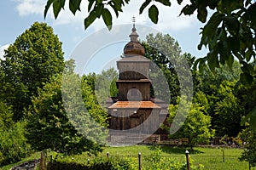
[[[108,103],[109,135],[112,143],[141,143],[150,136],[165,133],[160,123],[165,122],[167,105],[150,96],[152,82],[149,77],[150,59],[144,57],[145,49],[138,42],[135,24],[125,45],[124,55],[117,61],[119,94]]]

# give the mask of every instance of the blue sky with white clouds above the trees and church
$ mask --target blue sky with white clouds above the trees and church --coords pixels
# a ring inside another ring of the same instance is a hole
[[[64,52],[65,59],[73,58],[73,54],[81,44],[85,42],[85,45],[90,45],[91,37],[96,32],[102,31],[107,32],[106,26],[102,19],[94,22],[89,29],[84,30],[84,17],[88,15],[87,1],[82,1],[81,12],[77,12],[74,16],[65,7],[65,10],[61,11],[58,18],[55,20],[52,10],[49,10],[47,17],[44,19],[44,6],[46,0],[4,0],[1,1],[1,14],[0,14],[0,58],[3,59],[3,49],[8,48],[9,44],[15,42],[16,37],[22,34],[26,29],[36,21],[46,22],[49,26],[54,29],[55,34],[59,37],[62,42],[62,49]],[[68,2],[68,1],[67,1]],[[200,42],[200,32],[203,26],[199,20],[196,19],[196,14],[190,16],[180,15],[180,11],[183,6],[187,4],[187,0],[183,1],[182,5],[177,5],[176,1],[172,1],[171,7],[166,7],[161,4],[156,4],[160,9],[159,22],[154,25],[148,18],[148,8],[144,9],[143,14],[139,14],[139,7],[143,1],[132,0],[131,3],[125,6],[123,9],[124,13],[119,14],[119,18],[116,19],[113,14],[113,27],[122,28],[122,26],[130,26],[132,28],[132,16],[136,17],[136,25],[141,26],[143,29],[145,26],[149,30],[157,30],[163,34],[169,34],[175,38],[182,48],[183,53],[190,53],[193,56],[199,58],[207,54],[207,50],[198,50],[197,45]],[[157,2],[154,2],[157,3]],[[67,3],[68,4],[68,3]],[[110,33],[112,36],[114,29],[106,34]],[[142,30],[141,30],[142,32]],[[129,34],[131,30],[122,31],[124,35],[124,41],[116,42],[116,46],[113,46],[113,42],[110,44],[104,44],[103,48],[98,48],[96,54],[106,55],[121,55],[122,49],[125,46],[125,41],[129,41]],[[140,35],[140,30],[137,28],[137,33]],[[141,36],[141,35],[140,35]],[[88,39],[89,38],[89,39]],[[107,39],[108,36],[102,35],[101,40]],[[123,37],[122,37],[123,38]],[[143,36],[140,37],[144,40]],[[98,41],[101,41],[98,40]],[[109,48],[109,49],[108,49]],[[81,49],[80,49],[81,50]],[[115,52],[115,53],[114,53]],[[105,57],[105,56],[104,56]],[[106,58],[106,57],[105,57]],[[98,60],[102,60],[100,57]],[[112,59],[108,59],[109,62]],[[97,60],[96,60],[97,61]]]

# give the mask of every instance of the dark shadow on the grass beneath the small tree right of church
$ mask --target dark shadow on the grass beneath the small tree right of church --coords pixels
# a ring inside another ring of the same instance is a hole
[[[201,154],[204,153],[201,150],[198,149],[194,149],[194,150],[190,150],[189,147],[186,146],[172,146],[172,145],[148,145],[149,150],[156,150],[157,147],[160,147],[160,149],[163,152],[166,152],[167,154],[185,154],[186,150],[189,150],[189,154]]]

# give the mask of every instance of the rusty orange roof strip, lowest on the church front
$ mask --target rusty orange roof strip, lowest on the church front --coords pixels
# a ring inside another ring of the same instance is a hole
[[[159,105],[155,105],[152,101],[118,101],[108,107],[114,108],[144,108],[144,109],[160,109]]]

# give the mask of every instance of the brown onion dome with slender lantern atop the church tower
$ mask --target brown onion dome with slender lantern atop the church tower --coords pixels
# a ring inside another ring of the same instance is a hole
[[[125,56],[129,54],[144,55],[145,48],[143,48],[142,44],[137,40],[137,37],[139,36],[137,35],[135,25],[133,25],[133,28],[131,29],[131,34],[129,37],[131,38],[131,41],[125,45],[125,48],[124,48]]]

